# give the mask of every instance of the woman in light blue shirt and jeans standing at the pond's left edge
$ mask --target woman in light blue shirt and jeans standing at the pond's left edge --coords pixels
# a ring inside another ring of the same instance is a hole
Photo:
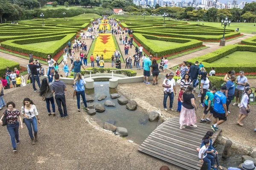
[[[85,93],[84,93],[84,85],[85,85],[85,81],[81,75],[81,73],[77,73],[76,74],[76,79],[75,79],[75,91],[74,91],[74,96],[76,96],[76,100],[77,100],[77,111],[80,112],[80,95],[83,99],[84,102],[84,107],[87,111],[89,111],[90,109],[87,108],[87,103],[86,103],[86,99],[85,99]]]

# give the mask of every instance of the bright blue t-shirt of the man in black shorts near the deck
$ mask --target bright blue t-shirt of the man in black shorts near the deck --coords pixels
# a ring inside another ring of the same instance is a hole
[[[225,113],[223,104],[226,104],[226,96],[221,91],[217,91],[214,94],[214,106],[213,110],[217,113]]]

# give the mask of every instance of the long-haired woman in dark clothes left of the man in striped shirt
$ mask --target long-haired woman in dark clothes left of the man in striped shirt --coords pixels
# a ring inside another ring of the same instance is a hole
[[[56,114],[55,114],[55,104],[54,104],[53,94],[52,94],[52,91],[51,91],[51,86],[48,84],[46,78],[44,78],[42,80],[39,95],[42,97],[42,100],[46,102],[48,116],[51,116],[51,114],[53,116],[56,116]],[[50,102],[52,104],[52,113],[51,113],[51,109],[50,109]]]

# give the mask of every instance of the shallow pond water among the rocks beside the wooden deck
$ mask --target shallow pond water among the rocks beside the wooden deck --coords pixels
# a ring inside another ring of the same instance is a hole
[[[104,122],[115,120],[116,127],[125,127],[128,130],[126,139],[132,140],[137,144],[142,144],[148,135],[157,127],[157,121],[148,121],[144,125],[140,124],[140,118],[148,119],[148,114],[143,109],[137,107],[136,110],[129,111],[125,108],[125,105],[120,105],[117,99],[111,99],[110,94],[117,93],[117,91],[115,88],[109,88],[106,82],[94,83],[94,89],[85,89],[85,93],[86,95],[93,96],[94,101],[92,103],[94,106],[97,104],[104,105],[106,100],[115,103],[115,107],[104,106],[106,110],[103,113],[96,112],[92,117],[102,127]],[[98,97],[102,94],[107,95],[106,99],[98,101]]]

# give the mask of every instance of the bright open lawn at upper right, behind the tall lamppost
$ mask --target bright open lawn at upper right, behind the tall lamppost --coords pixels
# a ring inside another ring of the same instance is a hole
[[[195,21],[189,21],[187,22],[189,24],[204,24],[205,26],[213,26],[217,28],[224,28],[224,26],[221,26],[221,23],[212,23],[212,22],[195,22]],[[239,28],[239,32],[248,33],[251,34],[252,32],[256,32],[256,26],[254,26],[255,23],[230,23],[230,26],[226,27],[228,29],[233,29],[234,31],[236,28]]]

